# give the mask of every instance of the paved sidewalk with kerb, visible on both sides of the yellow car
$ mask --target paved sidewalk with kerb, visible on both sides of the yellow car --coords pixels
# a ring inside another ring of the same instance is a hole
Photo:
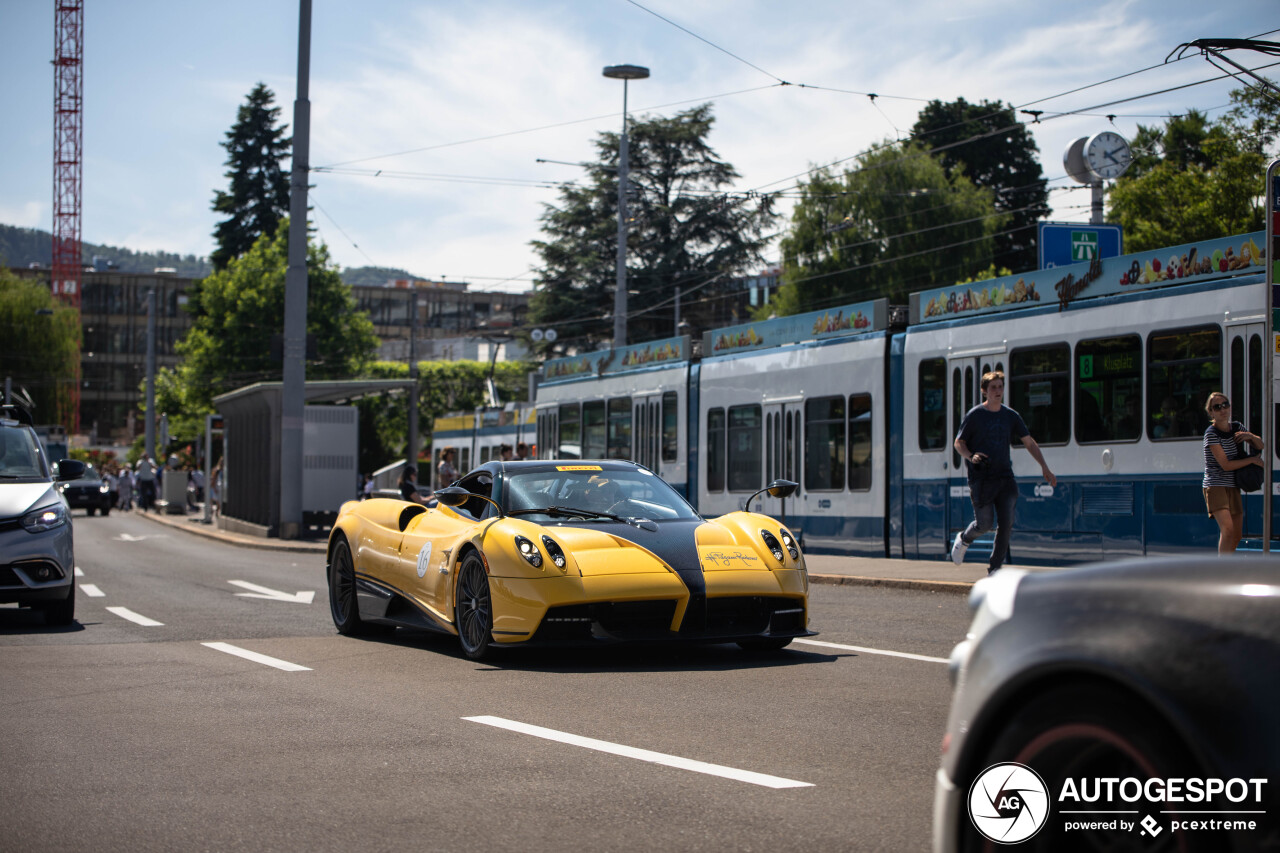
[[[140,512],[140,517],[163,524],[192,535],[218,539],[244,548],[292,551],[324,556],[326,543],[316,539],[274,539],[219,530],[215,524],[204,524],[204,515],[163,515]],[[890,560],[886,557],[841,557],[833,555],[805,555],[809,581],[814,584],[854,584],[860,587],[895,587],[897,589],[923,589],[968,594],[974,581],[987,576],[986,555],[956,566],[950,560]],[[1019,566],[1029,571],[1046,571],[1043,566]],[[1050,570],[1051,571],[1051,570]]]

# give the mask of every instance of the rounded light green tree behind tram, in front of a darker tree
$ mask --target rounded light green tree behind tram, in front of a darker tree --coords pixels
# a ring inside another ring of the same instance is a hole
[[[841,175],[818,169],[782,240],[780,315],[951,283],[992,265],[992,191],[960,170],[947,174],[923,146],[883,145]]]

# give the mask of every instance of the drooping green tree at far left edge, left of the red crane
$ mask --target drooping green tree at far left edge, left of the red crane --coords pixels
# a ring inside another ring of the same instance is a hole
[[[0,266],[0,365],[15,397],[29,397],[37,424],[67,423],[79,359],[79,314],[49,284]]]

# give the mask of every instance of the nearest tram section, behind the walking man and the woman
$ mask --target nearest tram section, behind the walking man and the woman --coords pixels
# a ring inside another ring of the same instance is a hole
[[[991,369],[1005,371],[1006,405],[1023,415],[1059,478],[1050,488],[1015,444],[1012,560],[1212,549],[1217,529],[1201,492],[1210,392],[1224,391],[1233,418],[1263,434],[1261,240],[1247,234],[913,295],[911,325],[895,347],[902,494],[890,553],[941,557],[972,519],[951,439],[980,402],[979,380]],[[1267,452],[1274,466],[1275,434]],[[1260,547],[1261,533],[1262,497],[1245,496],[1242,547]]]

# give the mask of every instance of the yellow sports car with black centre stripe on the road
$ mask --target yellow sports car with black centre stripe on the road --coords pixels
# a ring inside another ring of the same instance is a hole
[[[774,480],[768,492],[795,488]],[[435,508],[342,507],[328,569],[339,633],[436,630],[474,660],[600,640],[778,649],[814,633],[786,526],[754,512],[704,520],[634,462],[495,461],[435,496]]]

